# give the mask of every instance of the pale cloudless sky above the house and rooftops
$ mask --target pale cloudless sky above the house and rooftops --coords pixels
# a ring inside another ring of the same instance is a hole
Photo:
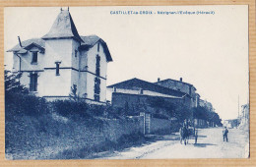
[[[63,7],[63,9],[67,9]],[[248,7],[70,7],[80,35],[96,34],[108,46],[107,85],[133,78],[148,82],[183,79],[201,99],[211,102],[222,119],[233,119],[248,101]],[[118,11],[111,14],[113,11]],[[127,11],[138,15],[125,15]],[[141,15],[148,11],[152,14]],[[160,15],[158,12],[195,12]],[[212,12],[199,14],[197,12]],[[60,7],[5,8],[5,51],[21,40],[41,37]],[[121,14],[122,13],[122,14]],[[5,52],[12,69],[12,53]]]

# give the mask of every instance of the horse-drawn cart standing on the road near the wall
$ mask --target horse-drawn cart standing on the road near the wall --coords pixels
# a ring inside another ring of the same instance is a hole
[[[181,144],[182,140],[184,140],[184,144],[186,145],[189,139],[195,139],[195,143],[197,143],[198,130],[195,127],[183,126],[179,129],[179,138]]]

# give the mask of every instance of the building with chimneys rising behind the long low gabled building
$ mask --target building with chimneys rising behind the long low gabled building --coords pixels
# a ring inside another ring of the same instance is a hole
[[[196,93],[197,89],[193,84],[184,83],[182,81],[182,78],[180,78],[179,81],[175,81],[172,79],[166,79],[166,80],[160,81],[160,79],[158,79],[157,84],[188,94],[191,97],[192,107],[197,107],[200,95]]]

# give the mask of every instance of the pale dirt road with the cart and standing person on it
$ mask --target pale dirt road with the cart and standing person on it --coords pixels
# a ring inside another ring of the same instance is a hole
[[[248,157],[248,132],[230,129],[228,142],[223,129],[209,128],[198,132],[198,143],[180,144],[178,134],[160,137],[157,141],[103,155],[100,159],[166,159],[166,158],[242,158]]]

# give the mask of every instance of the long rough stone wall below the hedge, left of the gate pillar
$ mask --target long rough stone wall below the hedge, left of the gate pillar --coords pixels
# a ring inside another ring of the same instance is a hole
[[[89,122],[88,122],[89,121]],[[91,151],[104,142],[143,133],[143,117],[73,121],[21,116],[6,123],[6,158],[52,159],[66,150]],[[61,158],[61,157],[58,157]]]

